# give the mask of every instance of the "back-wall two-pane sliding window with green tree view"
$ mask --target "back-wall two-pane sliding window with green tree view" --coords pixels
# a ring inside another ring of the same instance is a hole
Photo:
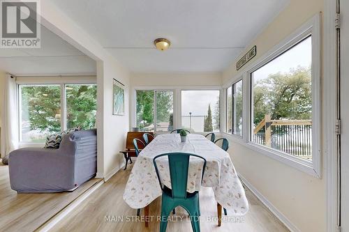
[[[142,131],[171,131],[173,91],[136,91],[136,125]]]

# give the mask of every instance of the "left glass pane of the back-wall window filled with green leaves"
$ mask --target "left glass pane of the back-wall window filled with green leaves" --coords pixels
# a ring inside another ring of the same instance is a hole
[[[136,125],[142,131],[154,130],[154,91],[136,91]]]

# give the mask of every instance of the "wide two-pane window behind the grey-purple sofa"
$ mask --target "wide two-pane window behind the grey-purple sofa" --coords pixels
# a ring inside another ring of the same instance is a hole
[[[62,96],[66,107],[61,102]],[[47,135],[66,128],[95,127],[95,84],[21,84],[19,102],[22,142],[42,143]],[[62,117],[66,118],[66,123]]]

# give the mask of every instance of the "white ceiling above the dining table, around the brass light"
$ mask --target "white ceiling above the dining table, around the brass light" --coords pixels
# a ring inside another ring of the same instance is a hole
[[[52,1],[132,72],[217,72],[290,0]]]

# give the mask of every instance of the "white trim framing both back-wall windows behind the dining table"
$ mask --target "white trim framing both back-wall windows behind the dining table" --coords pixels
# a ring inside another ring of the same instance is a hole
[[[137,118],[135,115],[136,112],[136,91],[173,91],[173,128],[181,127],[181,91],[220,91],[220,102],[223,102],[223,88],[222,86],[133,86],[131,90],[131,128],[136,127]],[[223,109],[220,107],[220,119],[223,121]],[[130,129],[131,129],[130,128]],[[167,132],[156,132],[156,134],[163,134]],[[220,131],[215,132],[216,135],[221,136],[223,132],[223,125],[220,125]],[[197,132],[197,134],[206,135],[207,132]]]

